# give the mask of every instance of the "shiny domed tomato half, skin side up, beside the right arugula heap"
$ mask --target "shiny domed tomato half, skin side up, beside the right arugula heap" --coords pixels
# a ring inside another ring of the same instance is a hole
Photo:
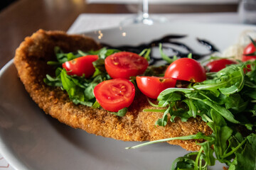
[[[181,58],[169,65],[164,77],[183,81],[201,82],[206,80],[206,70],[196,60]]]

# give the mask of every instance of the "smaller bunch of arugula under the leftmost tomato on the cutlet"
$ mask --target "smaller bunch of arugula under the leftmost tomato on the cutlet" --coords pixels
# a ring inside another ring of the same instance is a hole
[[[70,100],[75,104],[82,104],[85,106],[99,108],[100,106],[95,100],[93,89],[100,82],[110,79],[110,76],[105,71],[104,60],[107,56],[112,55],[114,52],[119,52],[119,50],[102,48],[97,51],[82,52],[81,50],[78,50],[78,52],[68,53],[60,50],[60,47],[55,47],[54,50],[57,61],[49,61],[48,64],[59,67],[57,67],[55,70],[55,77],[51,77],[47,74],[44,82],[49,86],[60,86],[61,89],[67,91]],[[90,79],[70,76],[67,74],[65,69],[60,67],[64,62],[68,62],[85,55],[99,56],[99,59],[92,63],[95,67],[95,73]]]

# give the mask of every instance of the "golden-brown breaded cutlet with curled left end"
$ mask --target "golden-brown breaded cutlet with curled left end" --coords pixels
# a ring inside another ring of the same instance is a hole
[[[46,74],[54,75],[55,70],[47,62],[56,60],[53,50],[55,46],[59,46],[64,52],[86,52],[98,50],[100,45],[84,35],[38,30],[31,37],[25,38],[16,50],[14,64],[26,91],[46,114],[61,123],[88,133],[123,141],[160,140],[193,135],[197,132],[211,134],[212,131],[201,118],[190,118],[187,122],[176,118],[174,123],[169,121],[165,127],[154,125],[163,113],[143,112],[145,108],[153,107],[142,94],[134,99],[124,117],[112,115],[102,108],[75,105],[65,91],[43,82]],[[191,151],[200,148],[195,140],[174,140],[169,143]]]

